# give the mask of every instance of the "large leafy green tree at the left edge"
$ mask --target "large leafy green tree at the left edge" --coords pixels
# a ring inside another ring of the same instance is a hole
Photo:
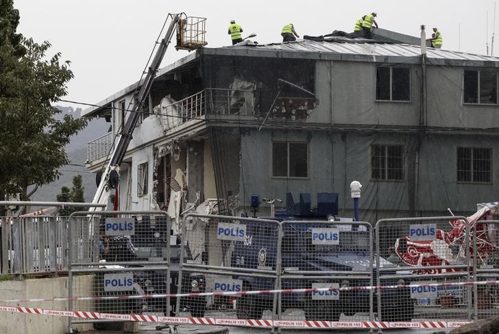
[[[0,198],[20,194],[27,200],[29,185],[58,179],[58,168],[69,163],[64,146],[86,126],[86,120],[53,107],[67,93],[73,78],[61,54],[47,58],[51,47],[15,34],[19,13],[12,0],[0,0]],[[24,48],[23,53],[21,47]]]

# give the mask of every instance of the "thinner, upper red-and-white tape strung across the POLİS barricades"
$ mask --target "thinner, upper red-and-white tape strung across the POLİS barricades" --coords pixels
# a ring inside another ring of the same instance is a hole
[[[388,290],[404,289],[411,287],[450,287],[465,285],[499,285],[499,281],[472,281],[472,282],[445,282],[408,285],[372,285],[358,287],[311,287],[306,289],[280,289],[280,290],[249,290],[230,292],[192,292],[188,294],[134,294],[122,296],[83,296],[83,297],[54,297],[30,299],[0,299],[0,303],[27,303],[27,302],[62,302],[67,300],[117,300],[117,299],[149,299],[149,298],[184,298],[204,296],[241,296],[245,294],[308,294],[325,291],[358,291],[358,290]]]

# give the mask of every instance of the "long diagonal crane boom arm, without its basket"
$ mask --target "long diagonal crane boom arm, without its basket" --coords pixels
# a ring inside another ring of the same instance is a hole
[[[119,165],[123,162],[123,157],[125,157],[128,144],[130,144],[130,140],[132,140],[132,133],[138,122],[140,111],[145,103],[145,99],[147,99],[147,96],[149,95],[152,82],[154,81],[156,72],[158,72],[161,61],[163,60],[163,57],[165,57],[165,52],[170,44],[173,31],[180,21],[180,15],[181,14],[169,14],[169,16],[171,16],[171,23],[168,27],[167,33],[165,34],[165,38],[163,38],[160,42],[158,50],[156,51],[156,54],[151,62],[151,66],[149,66],[149,69],[147,70],[147,75],[144,78],[141,89],[134,97],[134,105],[132,110],[130,110],[130,116],[128,116],[125,127],[123,127],[123,131],[121,131],[121,136],[119,136],[116,144],[114,145],[114,151],[112,152],[109,163],[102,174],[101,181],[97,187],[97,192],[95,192],[95,196],[92,201],[94,204],[107,204],[111,188],[115,188],[117,186]],[[100,209],[101,207],[93,207],[90,208],[90,211],[97,211]]]

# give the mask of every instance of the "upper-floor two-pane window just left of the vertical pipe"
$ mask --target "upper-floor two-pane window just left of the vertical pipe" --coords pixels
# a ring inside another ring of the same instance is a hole
[[[376,101],[411,101],[409,67],[376,67]]]

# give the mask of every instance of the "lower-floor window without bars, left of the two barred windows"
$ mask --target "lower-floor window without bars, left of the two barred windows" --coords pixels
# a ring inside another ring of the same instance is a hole
[[[273,177],[308,177],[308,143],[273,142]]]

